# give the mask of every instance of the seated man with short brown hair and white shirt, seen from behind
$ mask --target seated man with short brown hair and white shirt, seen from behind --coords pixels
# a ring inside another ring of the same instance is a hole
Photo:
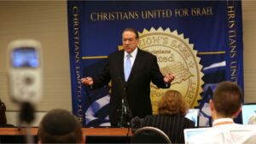
[[[219,83],[210,100],[212,128],[193,135],[187,143],[256,143],[256,126],[235,124],[233,118],[241,112],[241,89],[236,83]]]

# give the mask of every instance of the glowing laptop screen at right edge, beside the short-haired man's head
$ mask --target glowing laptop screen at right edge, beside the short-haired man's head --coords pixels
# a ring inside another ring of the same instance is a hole
[[[243,104],[241,107],[242,124],[248,124],[251,116],[256,114],[256,103]]]

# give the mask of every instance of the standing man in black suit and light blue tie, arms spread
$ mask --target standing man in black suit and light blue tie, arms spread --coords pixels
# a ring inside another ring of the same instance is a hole
[[[90,86],[90,89],[101,88],[112,80],[109,113],[112,126],[116,126],[119,122],[118,109],[121,109],[123,96],[120,85],[125,89],[132,117],[144,118],[146,115],[152,114],[150,82],[152,81],[159,88],[169,88],[174,79],[172,73],[163,76],[156,56],[139,49],[138,43],[137,31],[133,28],[126,28],[123,32],[124,50],[108,55],[107,65],[98,77],[81,79],[83,84]],[[127,63],[127,61],[129,62]]]

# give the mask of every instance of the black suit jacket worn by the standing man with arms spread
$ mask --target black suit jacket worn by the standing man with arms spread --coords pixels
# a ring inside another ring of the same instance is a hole
[[[108,56],[108,62],[102,74],[93,78],[93,89],[101,88],[112,80],[109,119],[115,126],[119,121],[117,110],[121,108],[122,87],[125,88],[132,117],[144,118],[146,115],[152,114],[150,82],[152,81],[159,88],[170,87],[170,84],[166,86],[163,78],[156,56],[138,49],[130,77],[125,82],[124,50],[121,50]]]

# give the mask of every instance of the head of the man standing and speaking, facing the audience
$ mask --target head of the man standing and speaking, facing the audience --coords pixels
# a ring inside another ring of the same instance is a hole
[[[131,53],[137,48],[139,43],[139,35],[134,28],[125,28],[123,32],[123,48],[127,53]]]

